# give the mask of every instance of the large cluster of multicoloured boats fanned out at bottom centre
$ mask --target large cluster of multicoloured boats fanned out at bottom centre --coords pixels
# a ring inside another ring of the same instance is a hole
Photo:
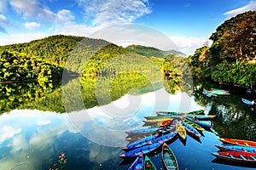
[[[146,116],[147,128],[127,131],[131,141],[123,150],[120,157],[137,157],[129,167],[132,169],[156,169],[148,158],[148,153],[161,148],[162,161],[166,169],[178,169],[177,159],[167,143],[172,143],[177,136],[182,141],[186,140],[187,133],[199,139],[202,131],[212,127],[214,116],[204,115],[204,110],[189,113],[158,111],[158,116]],[[138,135],[140,136],[138,137]],[[143,137],[141,137],[143,135]]]

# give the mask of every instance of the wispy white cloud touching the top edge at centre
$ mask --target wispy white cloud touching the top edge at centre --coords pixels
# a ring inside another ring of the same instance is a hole
[[[84,19],[92,20],[93,25],[131,23],[151,13],[148,0],[77,0],[77,2],[84,7]]]

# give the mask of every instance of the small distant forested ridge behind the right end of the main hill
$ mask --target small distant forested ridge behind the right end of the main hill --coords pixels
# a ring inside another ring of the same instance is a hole
[[[155,57],[155,58],[161,58],[164,59],[166,55],[168,54],[177,54],[177,56],[185,56],[186,54],[183,54],[179,51],[176,50],[169,50],[169,51],[163,51],[158,48],[153,48],[153,47],[145,47],[142,45],[130,45],[126,47],[131,52],[141,54],[143,56],[147,57]]]

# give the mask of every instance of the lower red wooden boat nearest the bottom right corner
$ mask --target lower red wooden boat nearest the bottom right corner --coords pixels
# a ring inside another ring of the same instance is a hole
[[[213,152],[212,156],[217,158],[229,160],[229,161],[240,161],[240,162],[256,162],[256,153],[239,152],[239,151],[218,151]]]

